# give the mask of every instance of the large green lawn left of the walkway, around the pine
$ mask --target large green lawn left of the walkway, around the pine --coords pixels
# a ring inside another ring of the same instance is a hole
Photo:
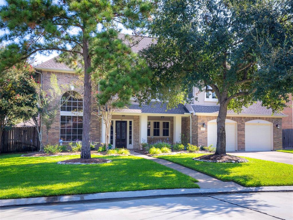
[[[59,165],[79,155],[55,157],[0,156],[0,199],[95,192],[199,188],[197,180],[135,156],[96,156],[112,163]]]

